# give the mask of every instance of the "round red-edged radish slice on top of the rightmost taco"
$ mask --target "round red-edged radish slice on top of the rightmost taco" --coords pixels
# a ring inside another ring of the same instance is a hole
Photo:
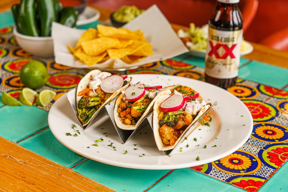
[[[184,104],[184,97],[182,95],[174,94],[162,102],[160,109],[164,112],[177,111],[181,109]]]

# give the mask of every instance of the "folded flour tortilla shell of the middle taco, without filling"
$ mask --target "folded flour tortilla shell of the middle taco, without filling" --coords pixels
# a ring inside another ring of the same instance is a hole
[[[170,87],[169,87],[170,88]],[[122,102],[123,99],[123,95],[120,94],[119,97],[117,98],[116,102],[115,102],[115,107],[114,107],[114,119],[115,119],[115,123],[117,124],[117,126],[120,129],[124,129],[124,130],[134,130],[138,127],[138,125],[141,123],[141,121],[147,116],[149,115],[152,111],[153,111],[153,105],[154,102],[156,101],[156,99],[162,95],[171,95],[171,91],[169,89],[165,89],[162,90],[161,92],[159,92],[154,99],[151,101],[151,103],[149,104],[149,106],[147,107],[147,109],[145,110],[145,112],[143,113],[143,115],[140,117],[140,119],[137,121],[137,123],[135,125],[126,125],[125,123],[122,122],[120,114],[117,112],[118,106],[120,105],[120,103]]]

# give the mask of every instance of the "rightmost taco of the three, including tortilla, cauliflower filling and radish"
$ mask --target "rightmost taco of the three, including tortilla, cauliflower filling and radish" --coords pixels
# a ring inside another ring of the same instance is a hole
[[[181,89],[174,91],[171,96],[159,96],[154,103],[153,134],[159,151],[173,149],[189,128],[211,107],[211,103],[207,104],[191,88],[192,91],[185,86],[185,92],[192,92],[188,95],[181,94]]]

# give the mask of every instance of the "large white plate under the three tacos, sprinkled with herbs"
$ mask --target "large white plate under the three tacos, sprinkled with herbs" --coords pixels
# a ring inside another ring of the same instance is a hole
[[[52,105],[48,114],[48,123],[54,136],[72,151],[101,163],[125,168],[166,170],[198,166],[225,157],[239,149],[252,132],[253,119],[248,108],[222,88],[179,76],[129,76],[134,83],[140,81],[146,85],[187,85],[198,91],[206,102],[217,102],[210,110],[211,126],[199,125],[189,136],[187,132],[187,139],[183,137],[183,142],[168,156],[164,155],[163,151],[158,151],[149,126],[125,144],[122,144],[108,115],[82,130],[64,94]],[[76,125],[75,130],[72,129],[72,124]],[[79,130],[80,134],[76,130]],[[192,130],[191,128],[189,131]],[[76,133],[77,136],[67,136],[66,133]],[[103,138],[103,141],[96,143],[98,147],[92,146],[99,138]],[[197,138],[197,141],[194,138]],[[203,148],[204,145],[207,148]],[[200,160],[196,160],[197,156]]]

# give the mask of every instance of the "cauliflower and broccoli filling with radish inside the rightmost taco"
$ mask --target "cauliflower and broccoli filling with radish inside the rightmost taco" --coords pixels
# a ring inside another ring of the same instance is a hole
[[[206,105],[207,103],[191,88],[181,85],[175,88],[174,94],[159,106],[159,136],[163,144],[175,145],[178,138]]]

